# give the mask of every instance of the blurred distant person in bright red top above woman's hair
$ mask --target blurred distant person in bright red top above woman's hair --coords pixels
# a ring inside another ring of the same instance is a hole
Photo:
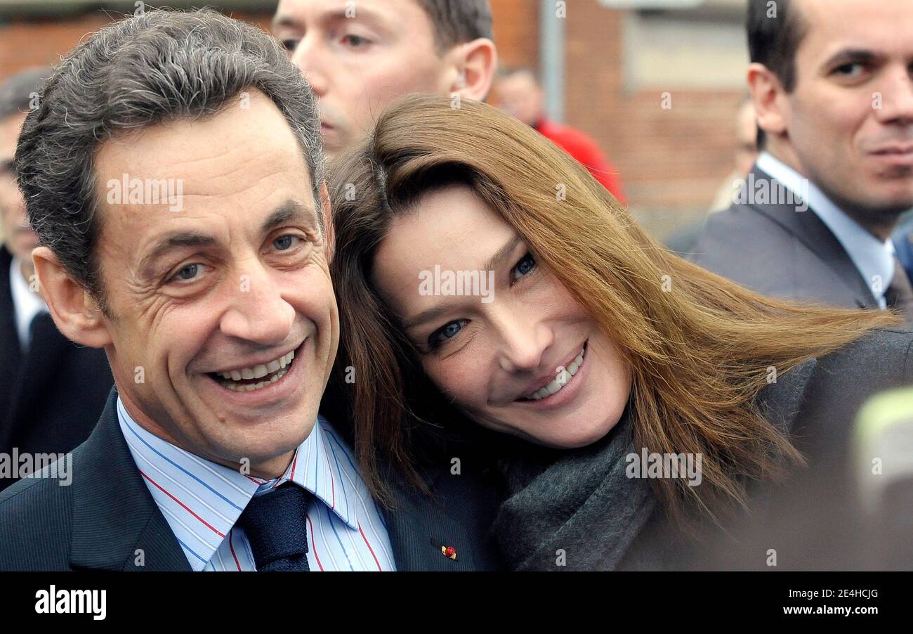
[[[545,116],[542,89],[532,70],[501,71],[495,79],[492,92],[494,105],[532,126],[542,136],[571,154],[624,205],[624,190],[618,169],[609,163],[593,139],[572,127],[552,122]]]

